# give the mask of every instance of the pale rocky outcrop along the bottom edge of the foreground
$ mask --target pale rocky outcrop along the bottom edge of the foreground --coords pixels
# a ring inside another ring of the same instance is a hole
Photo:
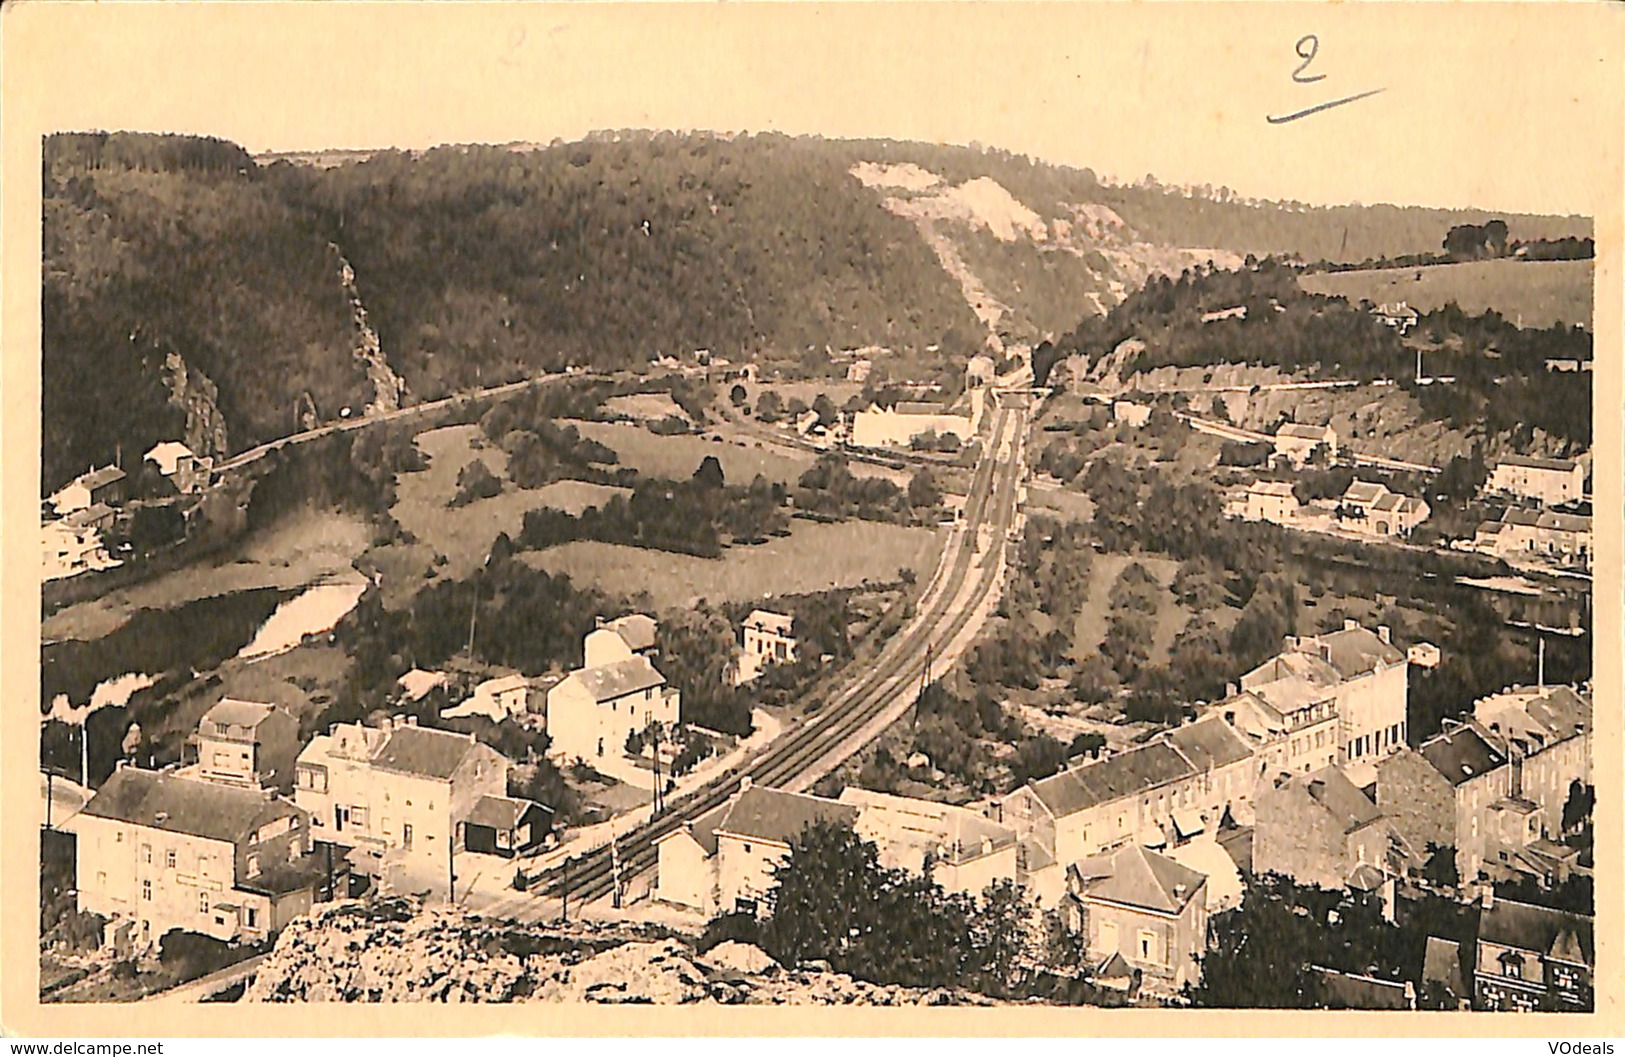
[[[959,990],[783,969],[760,948],[697,955],[609,925],[522,927],[457,911],[338,904],[283,930],[244,1002],[990,1005]]]

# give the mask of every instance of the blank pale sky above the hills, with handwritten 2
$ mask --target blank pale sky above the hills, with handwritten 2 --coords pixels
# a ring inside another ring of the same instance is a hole
[[[42,132],[252,151],[774,128],[1269,198],[1596,215],[1625,125],[1609,7],[36,2],[6,10],[6,117],[41,76]],[[1324,76],[1295,83],[1308,33],[1303,75]]]

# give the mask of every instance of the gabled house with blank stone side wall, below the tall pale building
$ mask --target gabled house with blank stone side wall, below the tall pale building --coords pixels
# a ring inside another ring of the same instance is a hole
[[[1256,795],[1253,870],[1298,885],[1378,891],[1393,906],[1393,881],[1409,855],[1383,811],[1337,768],[1276,782]]]

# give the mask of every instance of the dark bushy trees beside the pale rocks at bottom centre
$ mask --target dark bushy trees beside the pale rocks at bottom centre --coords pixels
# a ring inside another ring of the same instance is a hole
[[[843,824],[812,823],[791,841],[769,904],[756,938],[780,964],[824,961],[876,984],[1014,997],[1040,950],[1035,906],[1014,883],[947,893],[930,872],[882,867]]]

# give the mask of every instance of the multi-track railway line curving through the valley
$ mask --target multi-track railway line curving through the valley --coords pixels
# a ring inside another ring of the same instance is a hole
[[[1016,431],[1009,433],[1014,416]],[[760,756],[730,771],[702,790],[679,800],[673,808],[642,828],[614,841],[614,852],[603,846],[587,855],[561,863],[538,875],[528,890],[540,890],[551,898],[567,898],[578,904],[611,896],[616,883],[616,859],[619,876],[637,876],[655,865],[655,841],[679,826],[723,805],[746,774],[760,785],[780,787],[819,768],[835,766],[850,756],[856,746],[842,751],[866,724],[895,702],[899,693],[910,693],[908,685],[921,678],[931,663],[931,655],[951,644],[988,597],[999,576],[1001,563],[996,548],[1014,519],[1016,486],[1020,476],[1019,442],[1024,420],[1009,410],[1001,410],[994,420],[994,441],[988,444],[982,465],[967,499],[965,532],[959,537],[949,572],[933,590],[915,626],[881,652],[874,665],[845,693],[829,702],[819,716],[782,737]],[[1009,439],[1014,436],[1014,442]],[[991,519],[990,519],[991,509]],[[977,571],[977,532],[991,528],[990,546],[982,555]],[[965,585],[973,590],[965,597]],[[941,574],[941,568],[939,568]],[[835,758],[838,755],[838,758]]]

